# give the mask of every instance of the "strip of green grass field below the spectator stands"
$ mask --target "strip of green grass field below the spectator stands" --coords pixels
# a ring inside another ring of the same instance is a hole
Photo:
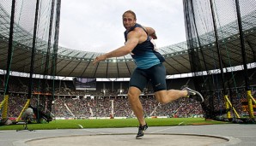
[[[167,118],[146,119],[149,126],[191,126],[208,124],[225,124],[222,121],[204,120],[203,118]],[[45,124],[27,124],[28,129],[81,129],[81,128],[120,128],[135,127],[137,119],[107,119],[107,120],[53,120]],[[24,125],[0,126],[0,130],[21,130]]]

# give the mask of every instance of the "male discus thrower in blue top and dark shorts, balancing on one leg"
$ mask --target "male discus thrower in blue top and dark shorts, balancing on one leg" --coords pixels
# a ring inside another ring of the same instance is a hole
[[[139,95],[149,80],[152,83],[156,100],[161,103],[172,102],[180,97],[191,97],[198,102],[204,102],[204,98],[198,91],[193,91],[187,87],[181,91],[167,90],[166,68],[162,64],[165,60],[159,52],[155,51],[155,45],[151,41],[151,39],[157,38],[155,30],[149,26],[137,24],[136,15],[131,10],[125,11],[122,18],[126,30],[125,45],[104,55],[97,56],[93,64],[107,58],[131,54],[137,67],[131,75],[128,100],[139,122],[136,137],[139,139],[143,137],[144,131],[148,128],[144,120],[143,106],[139,100]]]

